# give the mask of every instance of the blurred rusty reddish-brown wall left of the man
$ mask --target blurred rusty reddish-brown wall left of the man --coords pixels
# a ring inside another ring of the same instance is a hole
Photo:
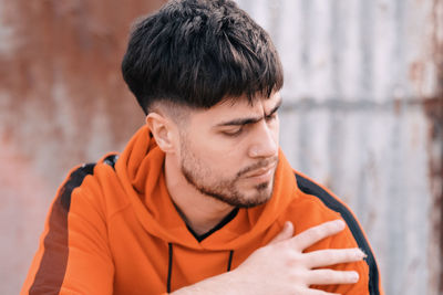
[[[18,294],[69,169],[143,124],[120,63],[163,0],[0,0],[0,294]]]

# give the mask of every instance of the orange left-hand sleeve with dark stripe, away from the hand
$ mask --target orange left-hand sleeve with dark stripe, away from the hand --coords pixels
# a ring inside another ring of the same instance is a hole
[[[60,187],[21,295],[112,294],[105,218],[85,188],[93,170],[92,164],[78,167]]]

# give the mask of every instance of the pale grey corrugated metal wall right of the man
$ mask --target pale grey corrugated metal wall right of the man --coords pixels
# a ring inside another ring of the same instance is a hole
[[[443,294],[442,1],[238,2],[282,59],[292,166],[358,214],[387,294]]]

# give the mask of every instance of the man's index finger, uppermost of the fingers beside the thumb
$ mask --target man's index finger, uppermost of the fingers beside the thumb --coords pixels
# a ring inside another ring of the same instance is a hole
[[[333,235],[344,229],[344,222],[340,219],[334,221],[328,221],[320,225],[310,228],[296,236],[293,236],[293,245],[299,251],[303,251],[310,245],[313,245],[318,241],[323,240],[327,236]]]

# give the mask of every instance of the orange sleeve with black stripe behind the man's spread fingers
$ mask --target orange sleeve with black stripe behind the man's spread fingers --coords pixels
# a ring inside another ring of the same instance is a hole
[[[340,271],[357,271],[360,276],[358,283],[348,285],[329,285],[329,286],[312,286],[312,287],[331,293],[348,294],[348,295],[360,295],[360,294],[383,295],[384,293],[381,285],[380,273],[377,265],[375,256],[373,254],[373,251],[371,249],[371,245],[368,241],[364,231],[362,230],[359,221],[357,220],[352,211],[331,191],[313,182],[306,176],[297,172],[296,178],[300,190],[303,193],[313,197],[312,200],[318,204],[319,208],[322,209],[316,211],[316,213],[319,214],[319,217],[312,217],[312,212],[306,212],[306,214],[309,214],[309,217],[306,215],[305,220],[309,219],[322,220],[322,222],[326,222],[328,220],[340,218],[347,224],[347,229],[344,231],[322,240],[316,245],[309,247],[307,251],[313,251],[320,249],[360,247],[367,254],[367,257],[361,262],[337,264],[330,267]],[[318,224],[310,224],[308,228],[313,225]],[[299,230],[302,231],[306,229],[299,229]]]

